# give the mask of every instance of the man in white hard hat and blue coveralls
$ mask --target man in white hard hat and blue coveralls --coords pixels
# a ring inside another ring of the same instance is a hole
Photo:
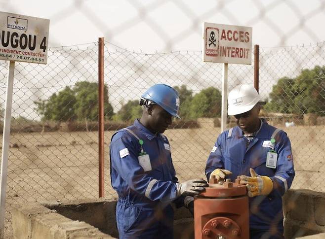
[[[249,197],[251,239],[282,239],[282,196],[295,172],[290,140],[284,131],[259,118],[261,97],[252,85],[238,85],[228,96],[228,115],[237,126],[224,131],[207,159],[207,178],[233,181],[241,176]]]

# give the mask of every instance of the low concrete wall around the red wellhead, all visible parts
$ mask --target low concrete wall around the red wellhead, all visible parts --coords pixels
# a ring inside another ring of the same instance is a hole
[[[14,205],[13,235],[15,239],[118,238],[116,203],[116,199],[101,198]],[[286,239],[325,232],[325,193],[289,190],[284,196],[284,216]],[[175,209],[174,219],[174,238],[193,239],[193,218],[189,211],[184,207]],[[322,236],[311,239],[325,238]]]

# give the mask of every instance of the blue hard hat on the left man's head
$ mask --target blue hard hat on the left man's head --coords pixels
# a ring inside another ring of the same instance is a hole
[[[180,119],[178,115],[178,92],[171,86],[165,84],[153,85],[141,97],[151,102],[155,102],[169,114]]]

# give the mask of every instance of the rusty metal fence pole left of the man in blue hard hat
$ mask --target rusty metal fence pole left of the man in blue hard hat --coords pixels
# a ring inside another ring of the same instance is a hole
[[[104,197],[104,37],[98,38],[98,187]]]

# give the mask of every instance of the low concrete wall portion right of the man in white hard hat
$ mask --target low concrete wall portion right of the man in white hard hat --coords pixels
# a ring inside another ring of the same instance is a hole
[[[324,233],[325,193],[290,189],[284,195],[284,218],[287,239]]]

